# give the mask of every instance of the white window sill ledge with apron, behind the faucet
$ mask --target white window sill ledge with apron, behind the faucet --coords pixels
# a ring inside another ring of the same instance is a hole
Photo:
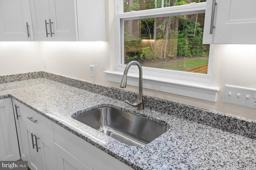
[[[115,70],[104,71],[104,73],[106,73],[108,81],[120,83],[124,72]],[[143,88],[208,100],[211,102],[216,102],[217,93],[220,91],[219,87],[208,86],[199,82],[197,83],[146,74],[143,74],[142,77]],[[139,86],[138,74],[128,72],[127,84],[132,86]]]

